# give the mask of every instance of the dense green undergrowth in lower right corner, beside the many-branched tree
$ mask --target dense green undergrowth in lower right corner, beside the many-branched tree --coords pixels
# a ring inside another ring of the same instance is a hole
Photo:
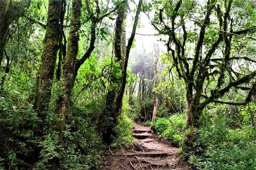
[[[251,126],[231,129],[225,117],[201,118],[189,162],[197,169],[256,169],[256,131]],[[184,149],[184,148],[183,148]]]

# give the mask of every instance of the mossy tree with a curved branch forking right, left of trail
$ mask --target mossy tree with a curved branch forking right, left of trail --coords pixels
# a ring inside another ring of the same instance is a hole
[[[59,114],[60,120],[57,123],[57,130],[62,131],[64,128],[66,116],[68,115],[68,108],[70,103],[71,91],[73,90],[75,79],[81,65],[90,57],[93,52],[95,40],[97,38],[97,24],[102,21],[103,18],[113,13],[116,8],[110,10],[108,13],[103,15],[101,14],[100,7],[98,1],[96,2],[96,9],[91,8],[90,1],[85,1],[86,10],[89,14],[89,18],[87,21],[91,20],[91,41],[90,46],[86,50],[86,53],[82,56],[82,58],[77,59],[78,53],[78,42],[79,42],[79,33],[78,30],[81,27],[81,7],[82,2],[73,1],[72,6],[72,14],[71,14],[71,25],[70,25],[70,33],[68,39],[68,50],[67,56],[65,57],[65,64],[63,66],[63,78],[61,80],[61,92],[63,95],[57,102],[57,107],[55,108],[55,113]],[[95,10],[95,13],[93,13]],[[86,22],[87,22],[86,21]]]

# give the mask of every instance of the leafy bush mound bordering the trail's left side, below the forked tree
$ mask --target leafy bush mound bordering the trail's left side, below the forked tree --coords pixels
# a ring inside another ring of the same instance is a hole
[[[58,169],[97,168],[102,155],[102,142],[90,120],[83,113],[71,109],[63,132],[63,147]]]

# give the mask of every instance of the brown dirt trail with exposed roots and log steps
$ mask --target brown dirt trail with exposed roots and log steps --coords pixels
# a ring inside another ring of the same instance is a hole
[[[130,150],[119,150],[106,157],[101,170],[191,170],[178,153],[178,148],[159,140],[149,126],[136,124],[133,136],[138,143]]]

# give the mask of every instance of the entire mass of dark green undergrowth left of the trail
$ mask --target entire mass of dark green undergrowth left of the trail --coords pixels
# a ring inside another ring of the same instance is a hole
[[[5,96],[0,100],[0,169],[51,169],[53,162],[58,169],[99,166],[102,140],[82,108],[70,108],[60,141],[52,108],[41,120],[20,92]]]

